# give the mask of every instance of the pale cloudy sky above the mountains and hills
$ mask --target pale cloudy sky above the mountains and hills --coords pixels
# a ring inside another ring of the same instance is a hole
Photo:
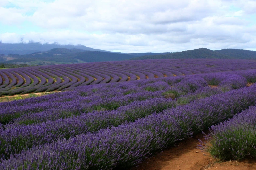
[[[256,0],[0,0],[0,40],[126,53],[256,50]]]

